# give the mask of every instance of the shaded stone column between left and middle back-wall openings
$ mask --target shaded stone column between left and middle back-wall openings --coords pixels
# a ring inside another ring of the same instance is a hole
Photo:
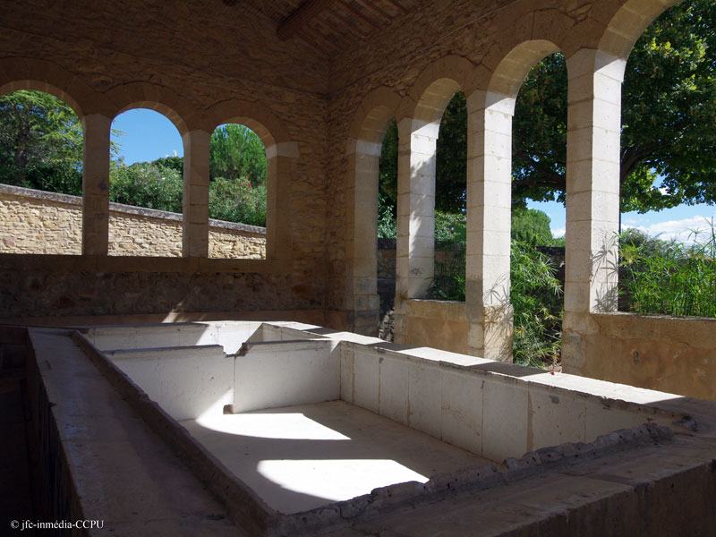
[[[82,254],[107,255],[109,243],[109,132],[112,120],[92,114],[82,118]]]

